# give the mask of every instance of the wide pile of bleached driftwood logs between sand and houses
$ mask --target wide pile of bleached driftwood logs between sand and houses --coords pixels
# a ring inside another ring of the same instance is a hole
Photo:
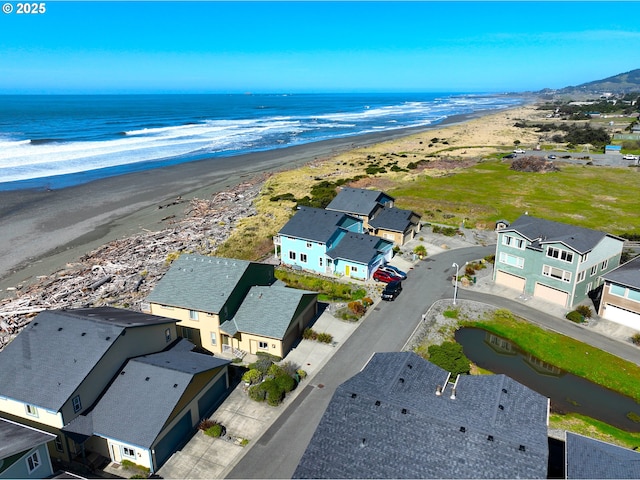
[[[109,305],[139,311],[179,253],[212,254],[238,220],[256,214],[253,199],[260,186],[256,180],[210,200],[193,199],[183,219],[163,219],[168,227],[107,243],[63,270],[16,288],[14,298],[0,300],[0,350],[43,310]]]

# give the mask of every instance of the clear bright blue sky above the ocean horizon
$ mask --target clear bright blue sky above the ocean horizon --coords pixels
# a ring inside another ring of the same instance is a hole
[[[640,68],[640,2],[47,1],[0,93],[504,92]]]

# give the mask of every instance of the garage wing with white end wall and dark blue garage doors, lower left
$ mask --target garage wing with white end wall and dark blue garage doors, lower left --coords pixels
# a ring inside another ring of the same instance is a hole
[[[63,428],[82,448],[156,472],[208,417],[229,387],[228,360],[170,350],[132,358],[96,405]]]

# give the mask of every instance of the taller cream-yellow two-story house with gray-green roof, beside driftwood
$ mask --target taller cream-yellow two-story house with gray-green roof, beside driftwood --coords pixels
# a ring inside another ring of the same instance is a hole
[[[142,305],[142,311],[178,320],[178,335],[213,353],[237,342],[220,325],[240,308],[249,289],[271,285],[273,265],[204,255],[178,257]]]

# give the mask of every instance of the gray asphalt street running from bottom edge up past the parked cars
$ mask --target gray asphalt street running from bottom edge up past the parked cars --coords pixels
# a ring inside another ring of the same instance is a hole
[[[483,258],[495,247],[451,250],[418,262],[395,302],[381,302],[226,478],[291,478],[335,389],[374,352],[400,351],[436,300],[453,295],[453,262]]]

